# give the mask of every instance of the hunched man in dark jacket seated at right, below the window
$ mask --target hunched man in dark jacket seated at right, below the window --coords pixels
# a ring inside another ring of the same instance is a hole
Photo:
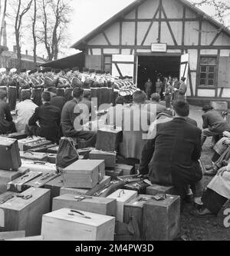
[[[203,118],[202,145],[207,137],[222,135],[224,131],[230,131],[227,121],[222,118],[218,111],[213,110],[211,105],[205,105]]]

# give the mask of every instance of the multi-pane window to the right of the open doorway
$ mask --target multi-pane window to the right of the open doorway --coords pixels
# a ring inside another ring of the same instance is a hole
[[[214,87],[216,77],[217,58],[201,57],[199,86]]]

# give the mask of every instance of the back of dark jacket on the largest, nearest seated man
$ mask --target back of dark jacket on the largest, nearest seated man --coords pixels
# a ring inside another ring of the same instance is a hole
[[[154,153],[150,163],[151,181],[162,185],[182,183],[197,175],[193,173],[195,162],[201,155],[202,131],[183,118],[174,118],[157,127],[153,140]],[[199,174],[200,175],[200,174]]]

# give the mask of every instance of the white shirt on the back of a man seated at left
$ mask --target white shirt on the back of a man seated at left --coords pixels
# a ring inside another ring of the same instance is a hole
[[[25,132],[25,126],[28,125],[28,121],[32,115],[35,113],[35,109],[38,108],[37,105],[31,100],[21,101],[16,105],[16,115],[15,125],[18,132]]]

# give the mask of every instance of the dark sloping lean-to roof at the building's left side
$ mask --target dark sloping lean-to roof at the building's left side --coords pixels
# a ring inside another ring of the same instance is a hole
[[[65,58],[60,58],[57,61],[46,62],[41,65],[41,67],[49,67],[49,68],[84,68],[84,53],[80,52],[76,55],[71,55]]]

